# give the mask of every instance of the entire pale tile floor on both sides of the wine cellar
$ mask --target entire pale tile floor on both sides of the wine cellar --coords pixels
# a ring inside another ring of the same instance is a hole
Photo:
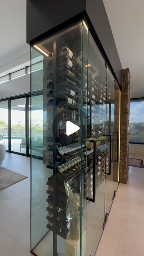
[[[0,191],[0,256],[30,256],[30,158],[7,153],[3,166],[28,179]],[[144,256],[144,169],[130,167],[129,172],[128,184],[119,185],[96,256]],[[36,162],[34,182],[40,190],[44,173]],[[36,216],[44,208],[42,202]],[[96,238],[93,251],[94,243]]]

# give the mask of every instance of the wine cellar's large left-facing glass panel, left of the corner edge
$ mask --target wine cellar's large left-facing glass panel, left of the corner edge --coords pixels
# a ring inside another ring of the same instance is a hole
[[[80,230],[86,173],[81,29],[80,23],[45,39],[31,54],[32,64],[41,55],[44,66],[31,73],[32,126],[37,117],[41,128],[43,120],[42,157],[32,153],[31,248],[38,256],[63,256],[71,246],[80,254],[80,231],[83,239],[86,234]],[[34,126],[32,138],[35,133]]]

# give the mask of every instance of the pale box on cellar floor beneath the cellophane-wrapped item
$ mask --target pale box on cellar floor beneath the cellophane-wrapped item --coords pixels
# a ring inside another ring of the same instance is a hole
[[[86,255],[85,244],[86,230],[82,233],[82,256]],[[80,238],[72,240],[70,235],[66,238],[65,256],[80,256]]]

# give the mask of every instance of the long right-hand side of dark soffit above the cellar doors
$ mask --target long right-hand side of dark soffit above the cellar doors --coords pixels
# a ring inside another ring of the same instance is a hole
[[[94,26],[96,34],[98,35],[116,77],[118,78],[118,82],[119,84],[122,84],[122,65],[103,1],[86,0],[86,12]]]

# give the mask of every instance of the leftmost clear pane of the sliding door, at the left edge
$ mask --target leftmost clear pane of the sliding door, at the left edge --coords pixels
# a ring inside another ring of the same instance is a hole
[[[8,100],[0,102],[0,144],[8,150]]]

